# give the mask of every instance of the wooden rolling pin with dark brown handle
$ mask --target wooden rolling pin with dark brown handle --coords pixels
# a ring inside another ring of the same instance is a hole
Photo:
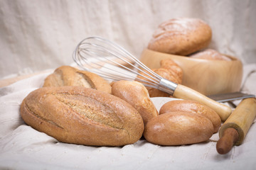
[[[243,99],[235,111],[220,127],[216,149],[219,154],[227,154],[233,148],[242,144],[256,115],[256,98]]]

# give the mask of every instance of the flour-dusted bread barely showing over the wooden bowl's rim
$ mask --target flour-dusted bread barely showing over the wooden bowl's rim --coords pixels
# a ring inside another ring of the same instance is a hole
[[[191,58],[199,58],[199,59],[206,59],[206,60],[224,60],[224,61],[231,61],[230,57],[227,57],[225,55],[220,54],[220,52],[213,50],[213,49],[207,49],[200,52],[196,52],[193,55],[190,55],[188,57]]]

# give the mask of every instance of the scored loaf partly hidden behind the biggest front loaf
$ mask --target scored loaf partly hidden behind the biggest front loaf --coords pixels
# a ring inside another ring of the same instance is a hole
[[[46,77],[43,86],[84,86],[111,93],[110,84],[102,77],[70,66],[55,69],[53,74]]]

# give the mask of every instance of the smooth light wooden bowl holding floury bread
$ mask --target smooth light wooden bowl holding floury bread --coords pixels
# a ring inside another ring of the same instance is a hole
[[[211,95],[240,90],[242,62],[235,57],[225,56],[232,61],[196,59],[145,49],[140,60],[150,69],[156,69],[160,67],[161,60],[172,59],[183,70],[183,85],[201,94]]]

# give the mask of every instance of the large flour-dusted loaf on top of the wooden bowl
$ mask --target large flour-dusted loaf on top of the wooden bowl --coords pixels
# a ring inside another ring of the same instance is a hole
[[[159,25],[148,49],[186,56],[207,47],[211,37],[210,26],[201,19],[173,18]]]

